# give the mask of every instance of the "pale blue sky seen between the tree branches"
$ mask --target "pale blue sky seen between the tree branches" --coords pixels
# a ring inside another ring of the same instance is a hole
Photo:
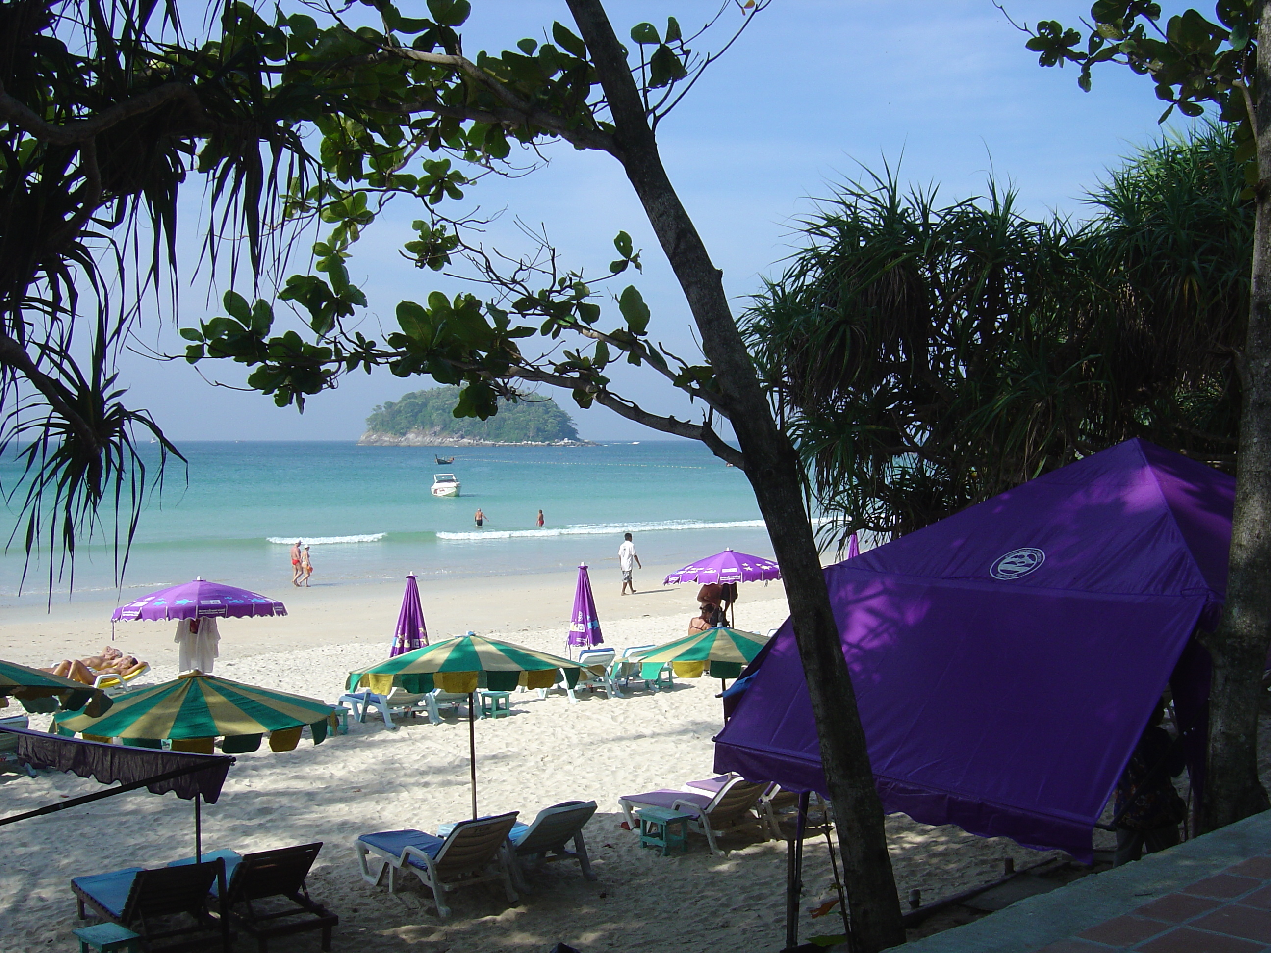
[[[422,3],[399,6],[408,15],[413,6],[423,9]],[[688,32],[716,6],[717,0],[608,4],[620,36],[641,20],[665,24],[667,15]],[[1005,8],[1030,23],[1074,23],[1089,9],[1070,0],[1007,0]],[[525,36],[543,39],[554,19],[569,23],[563,1],[473,0],[465,50],[511,48]],[[672,182],[724,272],[736,310],[761,287],[761,276],[779,273],[792,250],[792,227],[812,199],[859,174],[859,164],[900,163],[902,180],[939,183],[948,199],[980,194],[991,170],[1014,184],[1026,212],[1083,217],[1083,192],[1160,135],[1160,103],[1148,80],[1115,66],[1096,75],[1092,93],[1082,93],[1075,70],[1040,69],[1024,39],[989,0],[774,0],[658,132]],[[594,272],[610,260],[610,241],[625,229],[644,249],[644,273],[633,283],[652,306],[651,334],[672,351],[693,352],[683,297],[618,164],[572,149],[548,156],[549,165],[526,178],[486,180],[469,193],[484,211],[502,211],[487,234],[489,245],[520,250],[515,220],[541,224],[566,260]],[[188,240],[198,229],[197,198],[197,186],[187,189],[182,227]],[[402,299],[460,287],[397,255],[416,217],[417,210],[397,203],[350,262],[370,299],[364,333],[391,327]],[[187,262],[193,258],[187,250]],[[215,313],[207,310],[206,276],[191,274],[184,283],[184,323]],[[168,352],[180,346],[170,320],[153,321],[139,343]],[[386,371],[357,375],[313,399],[301,417],[258,394],[210,388],[183,362],[128,356],[122,370],[132,403],[149,407],[177,440],[351,440],[374,404],[431,386]],[[233,365],[205,366],[203,374],[229,385],[243,381]],[[651,409],[691,413],[677,394],[636,368],[624,368],[618,380]],[[585,437],[657,436],[608,410],[578,412],[568,395],[562,404]]]

